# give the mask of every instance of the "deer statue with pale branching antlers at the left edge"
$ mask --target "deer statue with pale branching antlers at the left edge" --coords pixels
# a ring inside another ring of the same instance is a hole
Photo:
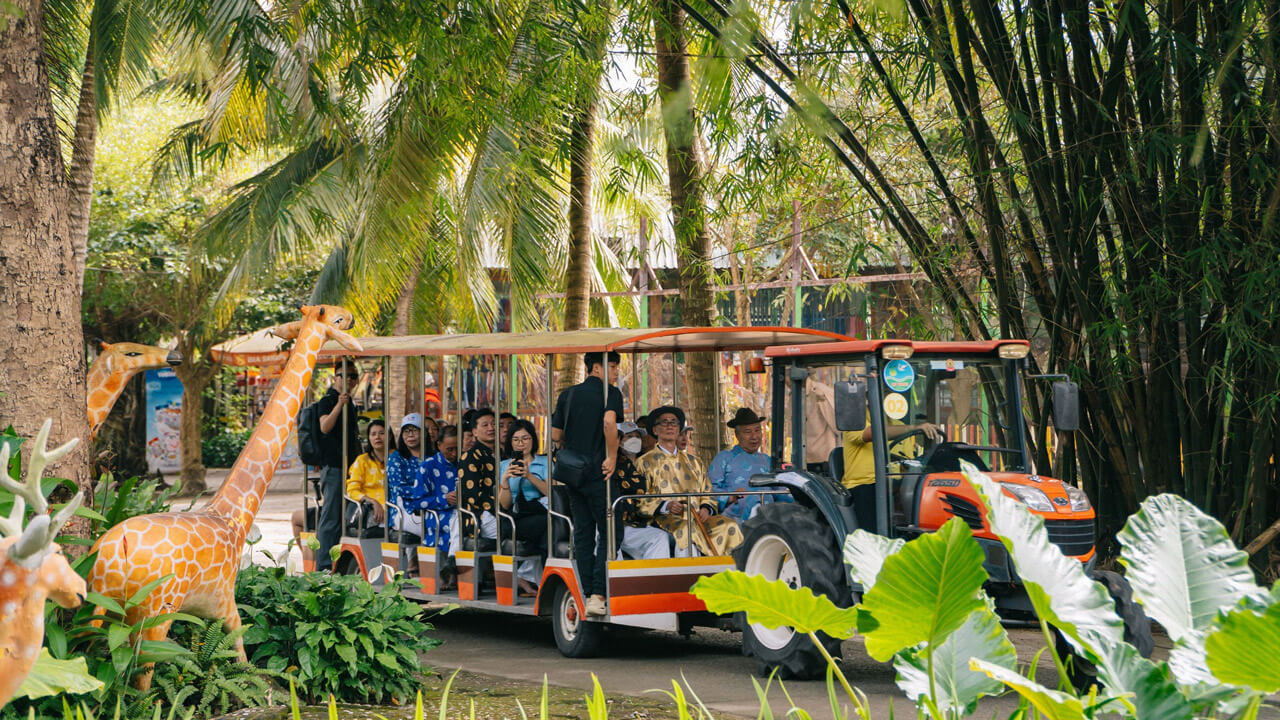
[[[79,438],[50,451],[51,425],[51,420],[45,420],[36,434],[26,482],[9,477],[9,445],[0,448],[0,487],[14,493],[9,516],[0,518],[0,707],[18,692],[44,644],[45,600],[61,607],[78,607],[84,600],[84,579],[72,570],[54,542],[83,497],[76,493],[65,507],[50,516],[40,487],[45,466],[61,460]],[[23,527],[28,502],[36,515]]]

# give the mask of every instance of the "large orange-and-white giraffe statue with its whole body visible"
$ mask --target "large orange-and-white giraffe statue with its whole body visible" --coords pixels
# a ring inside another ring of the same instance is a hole
[[[320,347],[334,340],[348,350],[362,350],[356,338],[343,332],[352,323],[347,310],[314,305],[302,307],[302,320],[273,328],[275,334],[294,340],[293,348],[262,419],[209,505],[195,512],[129,518],[93,544],[97,561],[90,571],[90,587],[118,602],[123,603],[151,580],[172,575],[129,610],[125,623],[183,611],[220,619],[228,630],[241,625],[236,610],[241,551],[311,383]],[[142,639],[164,639],[170,623],[143,630]],[[239,641],[236,650],[244,660]],[[151,667],[134,684],[148,688]]]

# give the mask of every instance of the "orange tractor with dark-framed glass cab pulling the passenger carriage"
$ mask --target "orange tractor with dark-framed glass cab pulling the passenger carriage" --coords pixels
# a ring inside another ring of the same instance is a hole
[[[1076,429],[1079,405],[1076,386],[1065,377],[1028,377],[1027,354],[1027,341],[771,347],[773,468],[751,484],[787,488],[795,502],[762,505],[746,521],[745,542],[735,552],[739,569],[809,587],[849,606],[861,591],[842,561],[845,538],[854,529],[911,539],[960,518],[986,552],[987,591],[1001,616],[1030,620],[1016,569],[960,473],[966,460],[1044,518],[1050,541],[1111,591],[1128,639],[1149,655],[1149,623],[1125,580],[1093,571],[1089,498],[1034,466],[1023,383],[1059,380],[1053,428],[1060,433]],[[838,641],[823,641],[838,657]],[[742,651],[758,660],[760,673],[776,669],[783,678],[819,678],[826,669],[812,641],[790,628],[744,623]]]

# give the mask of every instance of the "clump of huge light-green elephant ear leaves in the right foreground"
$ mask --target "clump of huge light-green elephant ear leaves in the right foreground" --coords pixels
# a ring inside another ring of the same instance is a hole
[[[1011,689],[1023,700],[1019,717],[1034,708],[1062,719],[1252,719],[1266,694],[1280,691],[1280,662],[1272,660],[1280,657],[1280,584],[1261,588],[1216,520],[1162,495],[1143,502],[1120,533],[1133,598],[1175,643],[1170,660],[1156,662],[1125,642],[1111,593],[1048,541],[1044,521],[972,465],[964,470],[1039,618],[1059,669],[1056,688],[1036,682],[1034,664],[1028,675],[1018,671],[1014,646],[983,589],[983,551],[959,519],[910,542],[863,530],[849,536],[845,560],[863,588],[852,609],[737,571],[703,578],[694,593],[713,612],[745,612],[748,621],[771,628],[841,638],[856,628],[872,657],[892,660],[897,685],[925,717],[965,717],[983,696]],[[1096,671],[1097,684],[1084,692],[1073,687],[1070,664]],[[835,661],[831,670],[865,717],[860,694]],[[835,700],[832,708],[845,716]]]

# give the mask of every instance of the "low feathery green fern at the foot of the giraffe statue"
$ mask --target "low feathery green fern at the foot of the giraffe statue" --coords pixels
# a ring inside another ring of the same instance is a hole
[[[191,655],[156,667],[154,683],[164,703],[191,708],[196,717],[270,705],[271,680],[284,675],[239,661],[236,641],[246,630],[241,626],[228,633],[221,620],[192,623],[183,643]]]

